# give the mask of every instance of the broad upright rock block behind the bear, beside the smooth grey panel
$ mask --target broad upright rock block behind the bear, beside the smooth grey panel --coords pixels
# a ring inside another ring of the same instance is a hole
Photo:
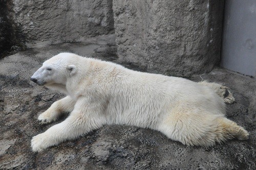
[[[122,60],[148,72],[190,76],[220,59],[223,1],[113,1]]]

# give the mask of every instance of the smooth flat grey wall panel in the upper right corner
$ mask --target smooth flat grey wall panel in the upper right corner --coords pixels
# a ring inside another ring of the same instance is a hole
[[[256,1],[226,1],[221,66],[256,77]]]

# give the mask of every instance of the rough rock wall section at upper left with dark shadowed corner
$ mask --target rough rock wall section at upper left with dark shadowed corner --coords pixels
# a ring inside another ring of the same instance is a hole
[[[26,47],[114,33],[112,0],[0,0],[0,58]]]

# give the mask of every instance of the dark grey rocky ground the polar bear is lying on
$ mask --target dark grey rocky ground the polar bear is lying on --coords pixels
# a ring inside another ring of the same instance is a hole
[[[104,39],[29,49],[0,60],[0,169],[256,169],[255,79],[216,68],[191,80],[223,83],[236,101],[227,117],[250,132],[247,141],[213,147],[185,146],[150,129],[105,125],[74,141],[33,153],[30,140],[58,122],[40,125],[37,117],[63,97],[30,81],[46,59],[73,52],[115,62],[116,46]],[[143,71],[134,63],[125,67]]]

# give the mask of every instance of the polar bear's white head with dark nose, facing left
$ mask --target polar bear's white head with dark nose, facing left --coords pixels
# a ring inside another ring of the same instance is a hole
[[[67,79],[77,72],[79,56],[72,53],[60,53],[42,64],[31,77],[40,86],[65,86]]]

